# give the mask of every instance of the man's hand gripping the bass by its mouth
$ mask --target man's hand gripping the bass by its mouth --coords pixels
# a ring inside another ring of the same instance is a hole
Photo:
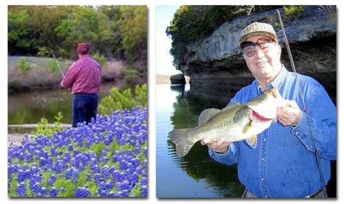
[[[301,120],[302,111],[294,100],[284,100],[290,107],[277,108],[277,120],[283,126],[297,126]]]

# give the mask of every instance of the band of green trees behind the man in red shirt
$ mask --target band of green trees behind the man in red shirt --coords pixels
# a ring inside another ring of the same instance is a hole
[[[8,54],[76,58],[88,42],[101,56],[135,61],[147,55],[146,6],[10,5]]]

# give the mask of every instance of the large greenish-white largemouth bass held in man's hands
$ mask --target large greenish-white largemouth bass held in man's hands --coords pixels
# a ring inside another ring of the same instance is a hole
[[[224,109],[205,109],[195,128],[175,129],[169,139],[175,144],[178,157],[184,157],[201,139],[215,141],[246,140],[251,148],[257,146],[257,135],[276,121],[277,107],[288,106],[277,88],[265,91],[245,104],[233,102]]]

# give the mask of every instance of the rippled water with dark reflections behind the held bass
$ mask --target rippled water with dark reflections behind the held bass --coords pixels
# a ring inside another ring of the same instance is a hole
[[[226,166],[208,156],[208,148],[197,142],[183,158],[167,135],[175,128],[197,126],[198,115],[208,108],[220,109],[232,95],[201,93],[185,86],[156,86],[156,181],[159,198],[240,197],[244,187],[237,167]]]

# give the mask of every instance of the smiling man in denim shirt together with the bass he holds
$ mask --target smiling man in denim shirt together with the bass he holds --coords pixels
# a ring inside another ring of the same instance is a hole
[[[201,140],[216,161],[237,163],[246,198],[325,197],[336,159],[336,107],[313,78],[297,74],[299,87],[281,64],[271,25],[251,23],[239,45],[255,80],[225,109],[203,111],[197,128],[169,133],[177,155]]]

